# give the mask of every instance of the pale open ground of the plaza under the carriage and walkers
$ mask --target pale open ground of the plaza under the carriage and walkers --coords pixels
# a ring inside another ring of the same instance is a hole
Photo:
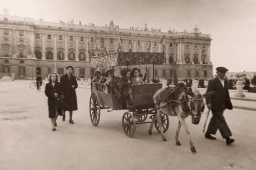
[[[167,142],[155,129],[149,136],[149,124],[137,125],[135,136],[126,137],[121,125],[125,111],[102,111],[99,126],[92,126],[86,86],[77,89],[75,124],[59,118],[53,132],[47,98],[43,90],[30,89],[30,82],[0,82],[0,169],[255,169],[255,111],[225,111],[236,140],[232,146],[219,132],[215,141],[204,138],[205,114],[199,125],[186,119],[197,151],[193,154],[184,129],[183,145],[175,145],[176,117],[170,117]]]

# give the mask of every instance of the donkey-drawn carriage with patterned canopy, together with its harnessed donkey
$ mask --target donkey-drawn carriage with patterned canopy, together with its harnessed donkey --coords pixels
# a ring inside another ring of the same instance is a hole
[[[153,79],[155,64],[163,64],[164,61],[164,53],[117,52],[91,58],[93,68],[114,69],[114,67],[122,68],[129,65],[152,64]],[[114,72],[112,73],[112,77],[114,77]],[[214,92],[205,94],[189,92],[186,91],[182,83],[174,89],[162,88],[161,83],[132,84],[132,107],[127,107],[121,95],[121,88],[119,88],[117,93],[113,93],[112,90],[111,94],[109,94],[99,90],[102,88],[98,87],[102,85],[97,82],[91,83],[90,118],[93,126],[99,124],[102,109],[112,109],[112,111],[127,110],[122,116],[122,127],[126,136],[134,136],[136,124],[151,123],[149,134],[152,134],[152,127],[155,125],[157,131],[161,133],[163,141],[166,141],[164,133],[169,128],[168,116],[177,116],[179,123],[175,133],[176,145],[181,145],[178,136],[180,128],[183,126],[189,138],[190,149],[193,153],[196,152],[185,118],[191,116],[192,123],[198,124],[204,108],[203,98]],[[156,101],[158,100],[157,104],[155,99]],[[151,115],[151,121],[147,122],[146,120],[149,115]]]

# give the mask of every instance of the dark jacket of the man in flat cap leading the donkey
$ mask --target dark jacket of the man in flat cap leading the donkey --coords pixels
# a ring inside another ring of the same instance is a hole
[[[206,104],[211,103],[211,110],[224,111],[227,109],[233,109],[228,92],[228,81],[224,81],[224,87],[222,86],[218,77],[214,78],[206,92],[215,91],[215,93],[209,97],[206,97]]]

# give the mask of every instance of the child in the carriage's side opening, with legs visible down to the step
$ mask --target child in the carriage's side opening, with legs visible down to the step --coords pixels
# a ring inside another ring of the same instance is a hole
[[[131,97],[129,94],[130,85],[131,85],[130,73],[131,73],[131,71],[127,68],[121,69],[121,71],[120,71],[121,78],[119,79],[119,82],[117,83],[117,85],[119,85],[122,88],[121,94],[122,94],[122,97],[125,99],[127,107],[131,107],[131,105],[132,105]]]

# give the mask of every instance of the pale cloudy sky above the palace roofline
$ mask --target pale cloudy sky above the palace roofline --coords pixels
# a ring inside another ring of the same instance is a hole
[[[79,21],[95,26],[120,28],[170,28],[183,32],[197,26],[210,34],[213,68],[230,72],[256,71],[255,0],[0,0],[0,7],[19,17],[43,18],[46,22]]]

